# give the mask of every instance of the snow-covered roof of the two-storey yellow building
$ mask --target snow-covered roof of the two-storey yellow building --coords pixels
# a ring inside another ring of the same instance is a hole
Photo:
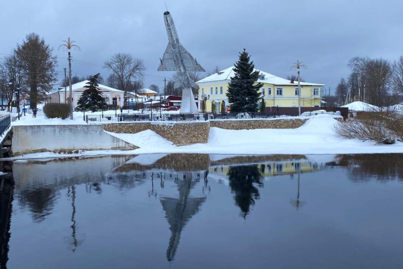
[[[257,69],[254,69],[256,71]],[[295,81],[294,83],[291,83],[290,80],[281,78],[275,75],[272,75],[270,73],[266,73],[263,71],[259,71],[259,74],[264,75],[264,79],[258,79],[257,82],[262,82],[262,83],[270,83],[273,85],[290,85],[290,86],[298,86],[298,81]],[[231,80],[231,77],[235,76],[234,72],[234,67],[231,66],[227,69],[224,69],[223,71],[220,71],[216,74],[213,74],[207,78],[201,79],[197,81],[196,83],[206,83],[206,82],[213,82],[213,81],[224,81],[224,80]],[[302,86],[324,86],[324,84],[317,84],[317,83],[309,83],[309,82],[301,82],[300,83]]]

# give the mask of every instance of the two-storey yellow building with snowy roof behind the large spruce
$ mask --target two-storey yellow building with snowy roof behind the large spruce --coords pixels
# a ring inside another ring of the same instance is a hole
[[[198,85],[198,95],[210,95],[206,102],[207,111],[211,112],[212,102],[216,103],[216,113],[220,112],[222,102],[229,106],[227,91],[231,77],[235,76],[233,66],[213,74],[207,78],[196,82]],[[263,96],[266,107],[297,107],[298,106],[298,81],[290,81],[275,75],[259,71],[259,79],[256,83],[262,83],[263,86],[259,92]],[[324,84],[301,82],[301,107],[321,106],[321,88]],[[199,105],[203,101],[199,98]]]

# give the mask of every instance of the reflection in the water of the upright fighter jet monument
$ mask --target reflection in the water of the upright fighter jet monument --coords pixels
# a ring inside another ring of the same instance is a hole
[[[175,258],[176,250],[179,245],[180,234],[192,216],[199,210],[206,197],[191,197],[190,190],[197,184],[191,178],[177,180],[176,184],[179,190],[179,197],[161,196],[160,201],[165,210],[168,220],[171,238],[167,249],[167,259],[172,261]]]

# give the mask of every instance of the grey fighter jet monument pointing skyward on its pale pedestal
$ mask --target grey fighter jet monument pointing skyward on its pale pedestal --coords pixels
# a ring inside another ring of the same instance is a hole
[[[174,88],[182,87],[182,103],[180,113],[197,113],[196,102],[191,87],[198,89],[198,86],[189,77],[187,72],[206,72],[196,59],[179,42],[173,19],[169,11],[164,12],[165,28],[168,34],[168,45],[164,56],[160,58],[158,71],[177,71],[179,79],[175,81]]]

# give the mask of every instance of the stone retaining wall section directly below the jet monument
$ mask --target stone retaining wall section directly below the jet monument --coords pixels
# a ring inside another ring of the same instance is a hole
[[[207,143],[210,125],[208,122],[194,123],[111,123],[105,124],[104,130],[121,134],[136,134],[152,130],[177,146]]]

